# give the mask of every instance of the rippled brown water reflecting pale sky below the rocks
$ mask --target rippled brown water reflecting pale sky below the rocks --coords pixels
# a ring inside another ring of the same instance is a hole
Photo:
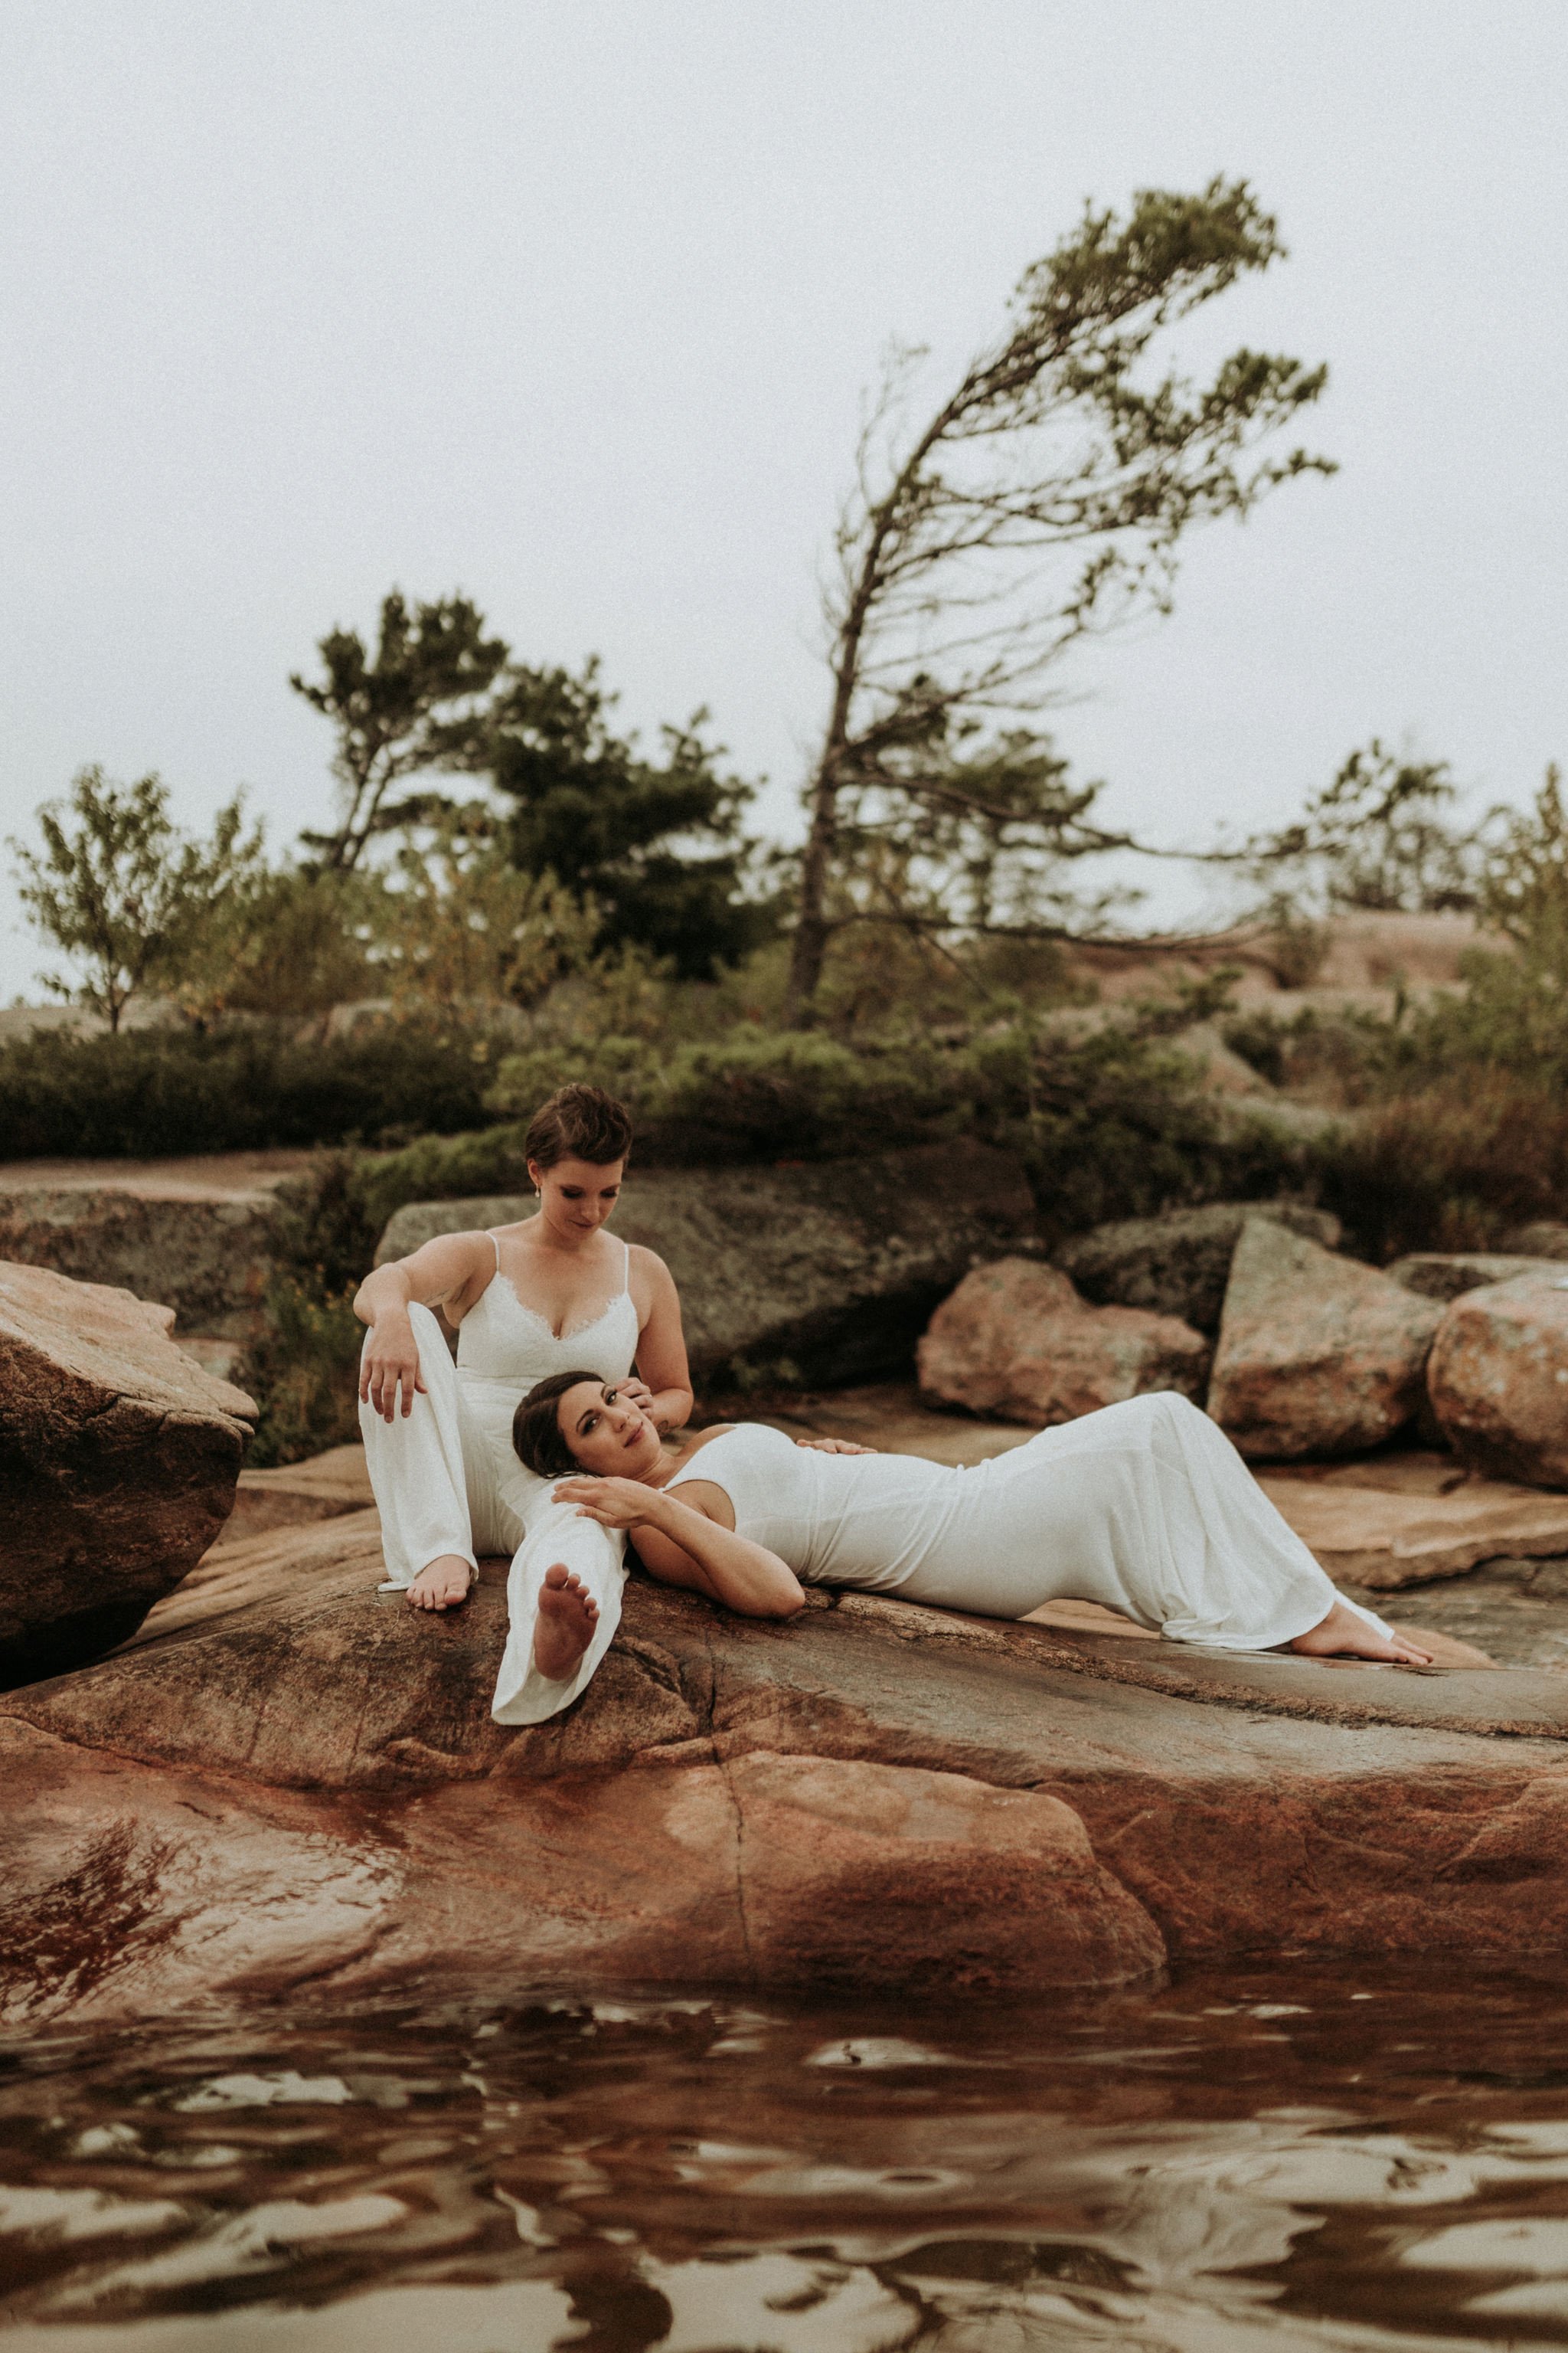
[[[569,1998],[0,2047],[5,2353],[1568,2346],[1568,1986]]]

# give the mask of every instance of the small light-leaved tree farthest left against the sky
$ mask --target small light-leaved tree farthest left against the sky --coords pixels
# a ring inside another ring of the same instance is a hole
[[[63,809],[45,802],[38,826],[42,854],[9,845],[21,904],[85,967],[80,981],[40,974],[42,986],[87,1005],[110,1031],[139,993],[179,986],[214,908],[261,868],[261,831],[244,833],[237,793],[202,840],[172,821],[155,774],[125,786],[85,767]]]

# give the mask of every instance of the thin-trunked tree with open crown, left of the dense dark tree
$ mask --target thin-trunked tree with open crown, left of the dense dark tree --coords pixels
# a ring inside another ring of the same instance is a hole
[[[339,828],[303,835],[324,866],[355,868],[378,833],[423,814],[421,802],[388,800],[404,776],[470,762],[508,661],[505,640],[487,638],[484,626],[465,595],[409,612],[393,588],[381,600],[374,659],[355,628],[334,628],[317,647],[324,675],[289,678],[336,734]]]

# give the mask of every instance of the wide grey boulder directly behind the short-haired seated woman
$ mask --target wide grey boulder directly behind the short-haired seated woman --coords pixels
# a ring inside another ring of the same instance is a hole
[[[527,1195],[407,1202],[376,1264],[534,1214]],[[1011,1153],[957,1139],[802,1167],[635,1172],[614,1231],[682,1294],[698,1381],[858,1381],[907,1365],[933,1306],[1034,1235]]]

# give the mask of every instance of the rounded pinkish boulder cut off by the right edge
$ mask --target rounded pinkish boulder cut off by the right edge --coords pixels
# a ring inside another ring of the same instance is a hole
[[[1530,1271],[1455,1299],[1427,1388],[1462,1461],[1526,1487],[1568,1487],[1568,1273]]]

